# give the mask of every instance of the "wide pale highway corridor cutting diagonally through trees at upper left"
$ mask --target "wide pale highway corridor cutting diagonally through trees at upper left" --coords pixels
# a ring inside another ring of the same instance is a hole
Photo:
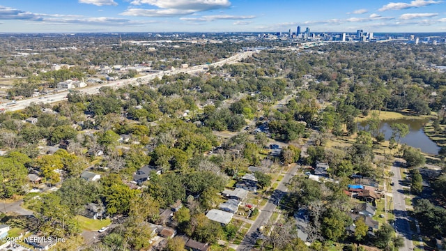
[[[211,63],[210,66],[223,66],[224,64],[236,63],[240,60],[246,59],[249,56],[252,56],[253,53],[254,52],[240,52],[240,53],[238,53],[234,56],[231,56],[227,59],[223,59],[222,61]],[[88,86],[88,87],[85,87],[82,89],[75,89],[75,90],[81,91],[86,94],[95,94],[95,93],[99,92],[99,89],[102,86],[118,88],[120,86],[125,86],[128,84],[139,85],[139,83],[147,82],[151,79],[155,79],[155,77],[161,78],[164,75],[174,75],[174,74],[178,74],[178,73],[192,74],[192,73],[205,72],[206,70],[204,70],[204,68],[208,68],[208,67],[209,67],[208,65],[201,65],[201,66],[192,66],[190,68],[180,69],[180,70],[164,70],[159,73],[148,74],[148,75],[144,75],[142,77],[135,77],[132,79],[119,79],[114,82],[109,82],[107,84]],[[46,96],[40,96],[40,97],[36,97],[36,98],[27,98],[26,100],[18,100],[14,104],[12,102],[10,102],[9,103],[10,105],[7,105],[8,103],[1,104],[0,108],[4,108],[4,109],[6,109],[6,111],[17,111],[17,110],[24,109],[25,107],[28,107],[31,103],[43,102],[45,104],[51,104],[54,102],[60,102],[62,100],[66,100],[67,95],[68,95],[68,91],[60,91],[58,93],[53,93],[53,94],[49,94]]]

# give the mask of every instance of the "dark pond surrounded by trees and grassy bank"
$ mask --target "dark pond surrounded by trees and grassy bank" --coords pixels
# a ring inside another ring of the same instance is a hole
[[[406,137],[401,138],[400,144],[407,144],[408,146],[413,146],[415,148],[421,149],[423,153],[429,153],[436,155],[440,150],[440,147],[437,146],[435,142],[433,142],[427,135],[424,134],[423,128],[426,123],[429,122],[428,119],[394,119],[389,121],[381,121],[379,125],[380,132],[383,132],[385,135],[385,139],[389,140],[392,137],[392,128],[390,125],[392,123],[403,123],[409,126],[409,133]],[[359,128],[363,129],[366,124],[359,123]]]

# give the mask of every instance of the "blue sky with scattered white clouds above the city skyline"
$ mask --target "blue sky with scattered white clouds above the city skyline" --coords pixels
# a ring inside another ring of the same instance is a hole
[[[0,0],[0,32],[446,32],[445,1]]]

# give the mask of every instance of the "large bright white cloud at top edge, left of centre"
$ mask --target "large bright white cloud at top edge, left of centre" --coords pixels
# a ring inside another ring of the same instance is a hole
[[[216,10],[231,6],[229,0],[133,0],[130,4],[140,6],[148,4],[157,8],[128,8],[121,15],[144,17],[173,17],[192,15],[206,10]]]

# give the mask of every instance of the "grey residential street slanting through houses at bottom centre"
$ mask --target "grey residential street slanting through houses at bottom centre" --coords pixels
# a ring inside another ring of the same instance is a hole
[[[270,199],[268,199],[268,202],[263,209],[261,209],[259,216],[257,216],[256,221],[251,225],[251,228],[249,231],[247,231],[247,234],[245,234],[245,238],[243,238],[243,241],[240,243],[240,245],[238,245],[237,250],[244,251],[252,250],[252,248],[254,248],[256,239],[259,238],[261,234],[257,229],[259,229],[261,225],[266,225],[266,223],[268,223],[272,213],[275,211],[277,201],[281,199],[288,190],[288,188],[286,188],[286,184],[289,183],[290,179],[295,175],[298,167],[299,165],[294,164],[289,172],[285,174],[284,178],[282,178],[282,181],[279,182],[277,189],[272,193]]]

